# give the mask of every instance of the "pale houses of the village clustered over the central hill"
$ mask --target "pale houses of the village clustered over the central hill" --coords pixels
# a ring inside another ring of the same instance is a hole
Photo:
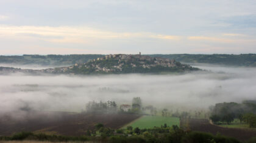
[[[102,66],[102,62],[108,62],[108,59],[113,59],[116,63],[112,63],[109,67]],[[101,62],[102,61],[102,62]],[[126,54],[116,54],[116,55],[106,55],[102,58],[93,59],[90,62],[84,64],[75,64],[70,67],[62,67],[62,68],[54,68],[54,69],[46,69],[46,73],[54,73],[58,71],[60,73],[72,73],[74,67],[76,68],[88,68],[93,69],[96,72],[104,71],[104,72],[112,72],[112,71],[122,71],[123,65],[129,64],[130,67],[143,67],[143,68],[151,68],[156,66],[162,67],[176,67],[176,61],[174,59],[165,59],[165,58],[152,58],[151,56],[142,56],[138,55],[126,55]],[[54,71],[55,70],[55,71]]]

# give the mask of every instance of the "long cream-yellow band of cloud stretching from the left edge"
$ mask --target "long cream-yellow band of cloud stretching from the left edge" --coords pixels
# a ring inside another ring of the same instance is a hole
[[[43,39],[49,42],[85,44],[90,39],[130,39],[156,38],[180,39],[179,36],[158,35],[147,32],[110,32],[90,27],[49,27],[49,26],[10,26],[0,25],[0,35]]]

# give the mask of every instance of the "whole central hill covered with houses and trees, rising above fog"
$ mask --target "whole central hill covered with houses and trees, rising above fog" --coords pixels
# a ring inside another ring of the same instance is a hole
[[[142,55],[107,55],[83,64],[69,67],[48,68],[45,73],[94,74],[94,73],[162,73],[199,70],[180,64],[174,59],[152,58]]]

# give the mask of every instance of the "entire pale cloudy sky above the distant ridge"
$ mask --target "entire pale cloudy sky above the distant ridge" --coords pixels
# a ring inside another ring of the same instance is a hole
[[[1,0],[0,55],[256,53],[255,7],[255,0]]]

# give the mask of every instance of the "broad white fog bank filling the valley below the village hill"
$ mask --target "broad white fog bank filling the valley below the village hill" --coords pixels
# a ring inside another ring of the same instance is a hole
[[[85,110],[89,101],[113,100],[158,108],[205,108],[256,99],[256,68],[197,66],[212,72],[185,75],[0,76],[0,112]]]

